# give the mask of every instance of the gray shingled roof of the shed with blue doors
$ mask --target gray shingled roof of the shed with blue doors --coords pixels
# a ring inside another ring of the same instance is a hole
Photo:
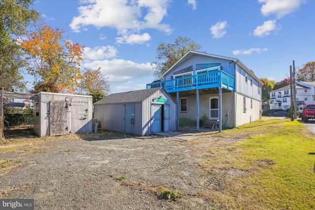
[[[117,104],[117,103],[133,103],[133,102],[142,102],[148,97],[150,97],[153,93],[160,90],[162,88],[153,88],[153,89],[145,89],[145,90],[134,90],[128,92],[119,92],[113,93],[106,96],[103,99],[95,102],[94,104]]]

